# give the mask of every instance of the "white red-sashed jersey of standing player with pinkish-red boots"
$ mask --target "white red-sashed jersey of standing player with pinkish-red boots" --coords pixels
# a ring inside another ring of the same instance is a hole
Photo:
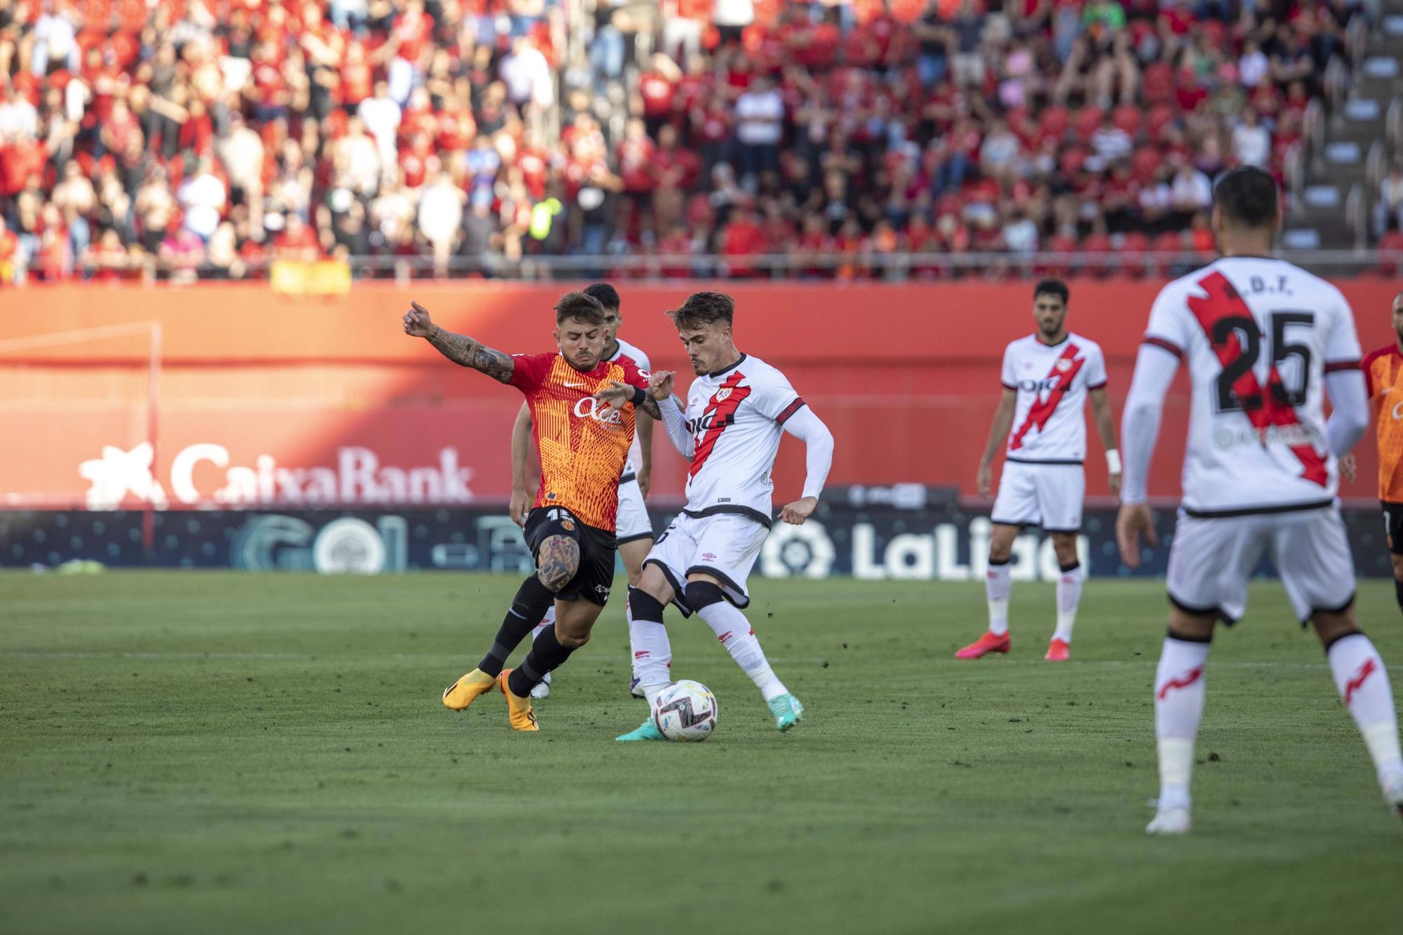
[[[1082,463],[1086,393],[1106,386],[1106,358],[1096,341],[1070,333],[1052,345],[1034,334],[1019,338],[1003,351],[1003,386],[1019,394],[1006,460]]]

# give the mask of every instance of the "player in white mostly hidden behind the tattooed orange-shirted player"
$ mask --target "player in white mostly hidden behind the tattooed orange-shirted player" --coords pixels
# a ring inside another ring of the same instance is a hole
[[[595,282],[585,286],[584,293],[599,299],[599,305],[605,306],[603,359],[631,364],[644,373],[651,371],[652,366],[648,364],[648,355],[619,337],[619,326],[623,324],[619,291],[607,282]],[[630,449],[629,460],[624,462],[623,475],[619,477],[619,518],[616,522],[619,557],[623,559],[623,570],[629,576],[630,585],[638,583],[638,576],[643,574],[643,559],[652,548],[652,522],[648,519],[648,508],[643,503],[644,497],[648,496],[648,484],[652,479],[652,420],[640,418],[636,425],[633,449]],[[530,449],[530,407],[522,404],[521,411],[516,413],[516,424],[512,427],[512,500],[508,507],[508,514],[519,526],[523,526],[526,522],[526,514],[530,511],[532,503],[532,493],[526,484],[526,455]],[[629,633],[631,637],[633,621],[627,604],[624,604],[624,618],[629,619]],[[532,640],[546,629],[554,626],[554,623],[556,608],[551,606],[546,612],[546,618],[532,630]],[[637,665],[638,660],[637,651],[634,653],[634,665]],[[532,698],[546,698],[550,695],[550,675],[546,675],[532,689]],[[643,698],[637,672],[634,672],[630,691],[637,698]]]

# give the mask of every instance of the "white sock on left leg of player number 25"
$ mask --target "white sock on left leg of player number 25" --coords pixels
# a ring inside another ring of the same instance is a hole
[[[1159,738],[1159,810],[1190,806],[1194,738],[1204,716],[1208,643],[1164,639],[1155,672],[1155,736]]]

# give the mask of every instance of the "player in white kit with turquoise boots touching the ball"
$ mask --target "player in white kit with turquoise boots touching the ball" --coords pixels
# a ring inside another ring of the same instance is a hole
[[[805,445],[804,493],[780,510],[780,519],[790,524],[804,522],[818,505],[833,462],[833,437],[783,373],[735,348],[734,313],[735,302],[720,292],[696,292],[668,313],[697,379],[686,403],[672,396],[672,373],[654,373],[650,392],[665,413],[668,438],[692,462],[687,505],[644,560],[643,578],[629,588],[629,606],[636,656],[647,651],[637,674],[650,705],[669,681],[672,647],[662,608],[672,601],[683,616],[706,621],[784,731],[800,722],[804,706],[774,675],[742,614],[751,602],[745,581],[770,531],[770,470],[780,435],[788,432]],[[629,393],[620,385],[616,402]],[[662,733],[650,717],[619,740],[662,740]]]

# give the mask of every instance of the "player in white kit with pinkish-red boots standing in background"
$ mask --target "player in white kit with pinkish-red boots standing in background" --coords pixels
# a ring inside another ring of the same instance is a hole
[[[989,442],[979,459],[978,487],[989,496],[993,456],[1005,446],[999,497],[993,501],[989,532],[989,629],[955,653],[979,658],[1009,651],[1009,559],[1023,526],[1042,526],[1052,536],[1061,574],[1056,581],[1056,630],[1047,660],[1065,661],[1072,647],[1072,625],[1082,599],[1085,571],[1076,555],[1086,493],[1086,400],[1092,400],[1096,431],[1106,446],[1111,496],[1121,489],[1121,456],[1115,451],[1115,423],[1106,399],[1106,358],[1096,341],[1066,330],[1069,292],[1061,279],[1044,279],[1033,289],[1037,331],[1003,351],[1003,397],[993,413]],[[1010,431],[1012,430],[1012,431]]]

